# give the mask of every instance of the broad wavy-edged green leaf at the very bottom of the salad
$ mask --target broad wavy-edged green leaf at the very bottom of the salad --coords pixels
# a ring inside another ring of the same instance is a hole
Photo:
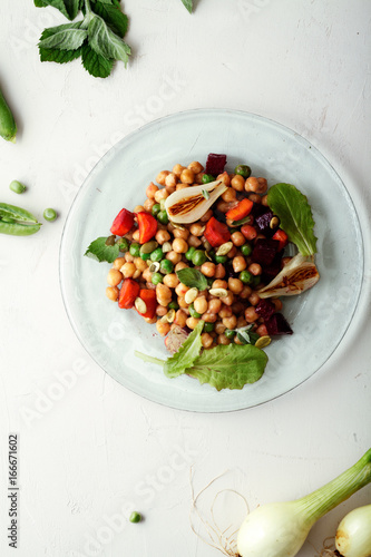
[[[188,375],[203,383],[209,383],[217,391],[242,389],[254,383],[264,373],[267,355],[252,344],[227,344],[204,350],[186,370]]]

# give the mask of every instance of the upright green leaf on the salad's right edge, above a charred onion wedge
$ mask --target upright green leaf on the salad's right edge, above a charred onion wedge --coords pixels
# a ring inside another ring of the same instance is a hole
[[[269,189],[267,204],[281,221],[290,242],[296,244],[302,255],[316,252],[314,221],[307,198],[292,184],[276,184]]]

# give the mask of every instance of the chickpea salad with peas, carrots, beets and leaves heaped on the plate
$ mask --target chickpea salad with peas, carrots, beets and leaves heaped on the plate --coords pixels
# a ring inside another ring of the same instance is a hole
[[[307,198],[291,184],[267,188],[246,164],[227,172],[226,163],[209,154],[205,167],[159,172],[143,205],[121,208],[110,235],[85,253],[111,264],[107,297],[154,324],[172,354],[136,355],[218,391],[262,377],[262,349],[293,333],[281,297],[320,278]]]

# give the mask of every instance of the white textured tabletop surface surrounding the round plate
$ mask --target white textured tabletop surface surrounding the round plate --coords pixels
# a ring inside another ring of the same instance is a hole
[[[36,236],[0,237],[1,556],[212,557],[189,528],[191,463],[196,490],[230,470],[223,487],[254,508],[315,489],[371,444],[370,2],[125,8],[133,59],[99,80],[79,61],[39,61],[36,42],[64,22],[59,12],[1,0],[0,80],[20,133],[16,146],[0,141],[0,201],[60,214]],[[291,393],[230,414],[170,410],[114,382],[75,338],[58,282],[64,222],[96,160],[138,126],[196,107],[256,113],[312,141],[345,182],[365,241],[361,301],[334,355]],[[14,178],[29,186],[22,197],[8,189]],[[9,432],[20,436],[17,550],[7,541]],[[368,487],[323,518],[300,555],[314,556],[345,511],[370,500]],[[126,521],[133,509],[143,524]]]

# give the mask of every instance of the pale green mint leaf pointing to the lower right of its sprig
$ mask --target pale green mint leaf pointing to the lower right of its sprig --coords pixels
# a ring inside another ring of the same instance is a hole
[[[127,65],[130,47],[115,35],[99,16],[94,16],[90,19],[88,32],[89,46],[92,50],[107,60],[114,58],[121,60],[125,66]]]

